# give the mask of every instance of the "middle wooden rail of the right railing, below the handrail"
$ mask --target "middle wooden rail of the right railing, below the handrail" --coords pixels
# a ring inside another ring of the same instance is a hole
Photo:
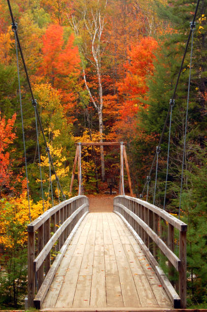
[[[121,204],[117,204],[121,205]],[[171,264],[174,268],[179,271],[181,266],[181,260],[167,247],[167,245],[159,238],[159,236],[147,225],[144,221],[142,221],[138,216],[136,216],[133,212],[131,212],[128,208],[121,205],[122,208],[132,217],[134,218],[139,225],[144,229],[144,231],[153,239],[153,241],[158,245],[160,250],[167,256]]]

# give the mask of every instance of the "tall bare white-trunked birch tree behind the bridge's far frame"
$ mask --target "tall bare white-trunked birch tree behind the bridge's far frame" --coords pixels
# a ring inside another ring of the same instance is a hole
[[[102,58],[106,43],[102,39],[103,30],[105,27],[106,7],[108,0],[105,1],[91,1],[85,0],[76,3],[75,12],[69,21],[73,27],[75,35],[81,38],[79,49],[82,56],[95,69],[98,81],[98,97],[93,93],[87,80],[85,73],[85,64],[82,59],[82,72],[85,88],[90,96],[91,102],[98,113],[100,142],[103,142],[103,88],[102,88]],[[105,166],[104,166],[104,149],[100,146],[101,155],[101,173],[102,180],[105,180]]]

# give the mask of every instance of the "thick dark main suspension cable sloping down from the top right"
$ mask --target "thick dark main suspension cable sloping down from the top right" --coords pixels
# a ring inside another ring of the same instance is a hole
[[[196,15],[197,15],[199,3],[200,3],[200,0],[197,0],[195,12],[194,12],[194,15],[193,15],[193,21],[191,22],[192,24],[195,24],[195,19],[196,19]],[[182,62],[181,62],[179,74],[178,74],[178,77],[177,77],[177,80],[176,80],[176,83],[175,83],[175,87],[174,87],[174,90],[173,90],[173,93],[172,93],[172,98],[171,98],[172,101],[175,99],[175,94],[176,94],[176,91],[177,91],[177,88],[178,88],[178,84],[179,84],[179,80],[180,80],[181,72],[182,72],[182,69],[183,69],[183,64],[184,64],[185,57],[186,57],[186,54],[187,54],[188,45],[189,45],[189,42],[190,42],[190,38],[191,38],[192,32],[193,32],[193,29],[191,28],[191,29],[190,29],[190,33],[189,33],[189,35],[188,35],[187,42],[186,42],[186,47],[185,47],[183,59],[182,59]],[[163,129],[162,129],[162,134],[161,134],[161,136],[160,136],[160,140],[159,140],[158,147],[161,146],[161,143],[162,143],[162,140],[163,140],[163,136],[164,136],[164,132],[165,132],[165,128],[166,128],[166,126],[167,126],[167,120],[168,120],[170,111],[171,111],[171,105],[169,105],[169,107],[168,107],[168,112],[167,112],[167,116],[166,116],[166,119],[165,119],[165,122],[164,122],[164,126],[163,126]],[[152,166],[151,166],[151,169],[150,169],[150,172],[149,172],[148,176],[151,176],[152,169],[153,169],[154,164],[155,164],[155,160],[156,160],[156,153],[155,153],[155,155],[154,155],[154,159],[153,159]],[[142,192],[141,192],[141,194],[140,194],[140,198],[143,197],[143,193],[144,193],[144,189],[145,189],[145,187],[146,187],[146,184],[147,184],[147,181],[145,181],[143,190],[142,190]]]

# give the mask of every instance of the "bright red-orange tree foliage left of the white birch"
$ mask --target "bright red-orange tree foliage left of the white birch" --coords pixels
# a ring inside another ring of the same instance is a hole
[[[76,101],[73,89],[80,74],[80,57],[78,47],[74,45],[74,35],[69,36],[66,44],[63,35],[63,27],[58,24],[49,25],[42,38],[43,62],[39,73],[47,83],[61,91],[67,112]]]

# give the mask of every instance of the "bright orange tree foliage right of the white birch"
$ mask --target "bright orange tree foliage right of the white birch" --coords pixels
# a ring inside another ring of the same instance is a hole
[[[131,141],[136,134],[135,116],[139,111],[139,106],[143,106],[140,98],[147,99],[146,80],[149,76],[153,76],[153,62],[157,47],[158,42],[154,38],[144,37],[137,45],[127,50],[128,60],[124,65],[126,76],[118,84],[121,97],[119,120],[113,126],[113,134],[117,138],[121,139],[124,136],[126,140]]]

